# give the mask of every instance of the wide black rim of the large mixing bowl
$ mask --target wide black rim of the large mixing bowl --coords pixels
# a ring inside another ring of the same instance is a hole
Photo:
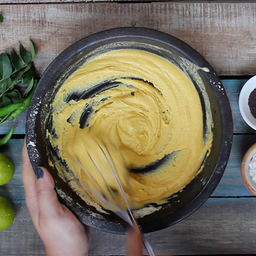
[[[169,34],[166,34],[164,32],[160,32],[154,29],[150,29],[150,28],[145,28],[145,27],[117,27],[117,28],[104,30],[104,31],[92,34],[88,37],[82,38],[81,40],[77,41],[73,45],[69,46],[60,55],[58,55],[54,59],[54,61],[46,68],[46,71],[43,73],[28,109],[27,122],[26,122],[26,134],[27,134],[26,141],[27,141],[28,155],[31,160],[31,164],[35,169],[37,168],[37,166],[41,164],[39,151],[37,149],[37,135],[35,132],[37,129],[37,118],[35,116],[35,113],[37,113],[39,110],[40,102],[42,101],[43,95],[47,89],[47,84],[48,84],[47,82],[49,82],[52,79],[52,77],[48,73],[51,73],[53,70],[54,72],[56,72],[55,70],[60,69],[59,63],[61,63],[61,61],[65,61],[67,59],[67,55],[69,55],[70,58],[73,55],[76,55],[77,52],[81,51],[81,49],[84,49],[84,48],[81,48],[82,46],[85,47],[86,45],[86,47],[89,48],[95,44],[99,44],[99,42],[103,42],[111,39],[123,39],[127,37],[136,38],[136,39],[146,38],[151,41],[160,42],[169,47],[173,47],[179,52],[182,52],[193,63],[196,62],[196,64],[198,64],[199,66],[209,68],[210,70],[210,73],[208,74],[209,81],[210,79],[214,81],[214,83],[210,83],[211,89],[214,95],[216,96],[216,98],[219,97],[217,100],[217,104],[220,111],[221,128],[225,130],[225,133],[224,134],[222,133],[220,137],[220,149],[219,149],[217,164],[213,167],[212,174],[210,175],[208,182],[203,185],[201,192],[199,192],[198,195],[192,201],[190,201],[187,205],[185,205],[183,208],[171,214],[166,215],[164,218],[142,223],[141,225],[142,231],[147,233],[147,232],[153,232],[156,230],[167,228],[179,222],[180,220],[186,218],[187,216],[192,214],[195,210],[200,208],[200,206],[210,197],[211,193],[214,191],[214,189],[218,185],[229,159],[229,154],[230,154],[231,145],[232,145],[232,138],[233,138],[233,120],[232,120],[232,113],[231,113],[228,96],[225,92],[225,89],[218,75],[215,73],[213,68],[191,46],[187,45],[180,39],[173,37]],[[218,87],[216,87],[215,82],[218,84]],[[35,157],[35,155],[37,157]],[[95,223],[92,225],[91,223],[87,223],[86,220],[84,221],[84,219],[81,219],[81,218],[79,219],[84,224],[89,225],[93,228],[100,229],[102,231],[112,232],[112,233],[124,234],[124,230],[121,228],[111,230],[110,226],[102,228],[101,222],[95,221]]]

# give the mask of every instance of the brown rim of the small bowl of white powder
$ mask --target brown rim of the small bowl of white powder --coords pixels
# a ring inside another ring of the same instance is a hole
[[[254,195],[256,195],[256,189],[254,189],[248,182],[248,178],[247,178],[247,165],[250,162],[250,159],[252,158],[252,156],[256,154],[256,143],[253,144],[252,146],[249,147],[249,149],[247,150],[246,154],[243,157],[242,163],[241,163],[241,176],[243,179],[243,182],[245,184],[245,186],[247,187],[247,189],[253,193]],[[256,184],[255,184],[256,186]]]

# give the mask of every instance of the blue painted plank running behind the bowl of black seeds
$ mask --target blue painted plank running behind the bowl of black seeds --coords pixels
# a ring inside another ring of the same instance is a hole
[[[227,91],[232,114],[234,120],[234,133],[256,133],[256,131],[250,128],[244,119],[242,118],[238,108],[238,97],[241,88],[247,80],[222,80],[222,83]],[[27,117],[27,111],[13,121],[0,126],[0,134],[6,134],[9,128],[15,127],[15,134],[25,134],[25,122]]]

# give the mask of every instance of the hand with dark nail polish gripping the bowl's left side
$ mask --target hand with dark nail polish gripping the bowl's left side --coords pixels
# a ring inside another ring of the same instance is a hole
[[[46,256],[88,256],[90,230],[58,201],[54,180],[46,168],[39,167],[36,175],[22,149],[22,181],[26,204],[37,233],[44,242]]]

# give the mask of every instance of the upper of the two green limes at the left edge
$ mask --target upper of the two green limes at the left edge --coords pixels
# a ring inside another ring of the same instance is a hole
[[[9,182],[14,174],[14,164],[4,154],[0,153],[0,186]]]

